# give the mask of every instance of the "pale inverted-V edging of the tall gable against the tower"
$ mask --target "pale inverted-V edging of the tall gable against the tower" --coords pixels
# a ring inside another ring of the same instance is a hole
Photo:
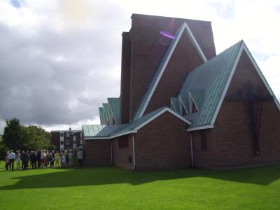
[[[195,49],[197,50],[197,53],[200,55],[203,62],[207,62],[207,58],[205,57],[204,53],[202,52],[200,45],[197,43],[195,36],[193,36],[193,32],[190,31],[190,28],[188,27],[188,24],[184,22],[181,27],[176,31],[174,39],[172,39],[171,43],[169,44],[169,47],[167,48],[167,52],[165,52],[164,57],[162,58],[160,65],[158,66],[158,69],[155,73],[155,76],[153,77],[153,80],[151,81],[150,86],[148,87],[148,90],[146,91],[146,94],[144,95],[144,99],[142,99],[141,104],[139,105],[139,108],[137,109],[134,120],[141,118],[141,116],[144,115],[144,112],[148,106],[148,103],[151,100],[151,97],[153,96],[153,93],[155,92],[155,88],[158,86],[158,83],[160,82],[160,78],[162,77],[162,74],[164,73],[167,64],[169,62],[169,59],[172,57],[172,54],[176,48],[176,45],[179,43],[179,40],[183,34],[183,31],[186,31],[188,34],[190,41],[193,43]]]

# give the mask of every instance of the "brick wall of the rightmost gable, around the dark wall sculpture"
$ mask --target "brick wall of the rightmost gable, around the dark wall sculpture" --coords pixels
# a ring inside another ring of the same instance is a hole
[[[258,87],[264,87],[248,57],[243,53],[226,99],[218,113],[214,129],[207,131],[207,151],[201,151],[200,132],[194,132],[195,165],[197,167],[223,168],[263,165],[280,162],[280,112],[264,91],[260,123],[260,155],[255,155],[253,133],[246,103],[234,100],[237,91],[245,92],[251,83],[256,94]]]

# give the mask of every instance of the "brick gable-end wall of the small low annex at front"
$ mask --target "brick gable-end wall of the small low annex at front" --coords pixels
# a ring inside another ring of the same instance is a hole
[[[170,113],[163,113],[135,134],[136,170],[189,167],[190,134],[187,124]]]

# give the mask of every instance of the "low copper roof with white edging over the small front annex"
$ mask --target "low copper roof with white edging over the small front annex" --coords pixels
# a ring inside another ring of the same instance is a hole
[[[126,135],[126,134],[137,133],[137,130],[141,129],[141,127],[144,127],[146,124],[150,123],[155,118],[158,118],[158,116],[161,116],[162,113],[165,113],[165,112],[171,113],[172,115],[176,116],[177,118],[179,118],[183,122],[190,125],[189,120],[187,120],[186,118],[183,118],[182,116],[180,116],[178,113],[174,112],[169,107],[164,106],[160,109],[157,109],[157,110],[155,110],[151,113],[146,114],[145,116],[142,116],[141,118],[139,118],[137,120],[133,120],[132,122],[127,123],[127,124],[110,125],[110,126],[103,125],[104,128],[107,127],[108,130],[110,130],[111,132],[106,131],[104,133],[107,133],[107,135],[102,136],[101,134],[103,134],[103,133],[101,132],[102,130],[100,130],[99,132],[97,132],[97,134],[98,134],[97,136],[87,135],[87,137],[85,139],[112,139],[112,138],[120,137],[120,136],[123,136],[123,135]],[[96,125],[83,125],[83,127],[85,127],[85,130],[86,130],[87,127],[94,127],[94,126],[96,126]],[[111,126],[114,126],[114,127],[111,127]]]

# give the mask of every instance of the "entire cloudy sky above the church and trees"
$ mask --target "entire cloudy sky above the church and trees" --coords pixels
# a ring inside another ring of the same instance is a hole
[[[217,52],[243,39],[280,99],[280,1],[0,1],[0,134],[97,124],[120,94],[121,34],[132,13],[212,22]]]

